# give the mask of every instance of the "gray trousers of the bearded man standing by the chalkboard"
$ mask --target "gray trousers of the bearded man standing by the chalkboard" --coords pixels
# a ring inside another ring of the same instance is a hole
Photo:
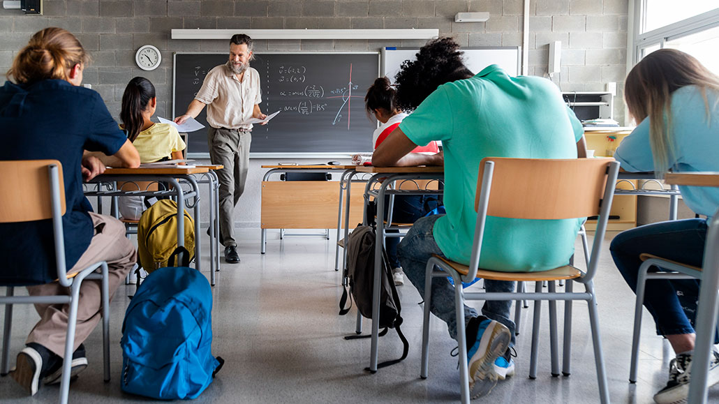
[[[249,169],[249,143],[252,135],[238,129],[207,131],[207,143],[212,164],[224,165],[215,173],[220,182],[220,235],[225,247],[237,246],[234,239],[234,207],[244,192],[244,181]]]

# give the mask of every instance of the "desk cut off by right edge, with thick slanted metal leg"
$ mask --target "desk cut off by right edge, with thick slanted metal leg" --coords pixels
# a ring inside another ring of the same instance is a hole
[[[667,173],[664,182],[672,185],[719,187],[719,173]],[[702,262],[702,286],[697,304],[697,339],[694,346],[689,403],[707,403],[709,354],[713,349],[719,288],[719,209],[708,223]]]

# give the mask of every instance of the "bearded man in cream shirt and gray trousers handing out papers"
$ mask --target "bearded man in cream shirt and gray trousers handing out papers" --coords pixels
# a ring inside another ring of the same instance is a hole
[[[239,262],[234,239],[234,207],[247,180],[252,141],[249,119],[267,117],[260,111],[260,73],[249,67],[252,58],[252,39],[244,34],[232,35],[227,63],[207,73],[186,113],[175,118],[175,123],[183,124],[207,106],[210,160],[212,164],[224,166],[216,172],[220,183],[220,242],[225,247],[225,261],[230,264]]]

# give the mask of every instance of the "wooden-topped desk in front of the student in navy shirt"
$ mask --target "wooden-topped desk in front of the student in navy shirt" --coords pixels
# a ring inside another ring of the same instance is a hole
[[[199,204],[199,188],[196,179],[193,177],[194,174],[207,174],[210,172],[208,167],[139,167],[139,168],[108,168],[105,173],[98,175],[96,178],[91,180],[91,183],[117,183],[122,181],[162,181],[172,185],[171,190],[145,190],[139,192],[128,193],[123,190],[97,190],[86,192],[86,196],[111,196],[113,198],[122,196],[175,196],[178,203],[178,246],[185,245],[185,220],[184,220],[184,206],[186,198],[193,198],[194,203],[191,208],[194,209],[195,216],[195,267],[197,270],[201,270],[201,231],[200,231],[200,204]],[[208,175],[211,183],[216,182],[216,176]],[[190,184],[191,190],[186,191],[180,186],[179,180]],[[214,199],[214,198],[212,198]],[[214,202],[214,201],[212,201]],[[214,203],[216,204],[216,203]],[[214,217],[216,209],[210,209],[211,221]],[[114,212],[117,216],[117,212]],[[211,251],[211,255],[213,252]],[[210,279],[211,285],[215,284],[215,263],[216,260],[210,262]]]

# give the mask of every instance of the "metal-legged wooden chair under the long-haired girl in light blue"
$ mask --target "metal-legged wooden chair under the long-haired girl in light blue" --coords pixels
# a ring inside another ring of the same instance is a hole
[[[629,382],[636,383],[636,368],[639,359],[639,336],[641,334],[642,305],[644,304],[644,291],[648,279],[702,279],[702,268],[682,264],[652,254],[640,254],[643,261],[639,266],[636,280],[636,303],[634,306],[634,332],[631,342],[631,365],[629,367]],[[660,272],[648,272],[649,268],[661,268]]]

